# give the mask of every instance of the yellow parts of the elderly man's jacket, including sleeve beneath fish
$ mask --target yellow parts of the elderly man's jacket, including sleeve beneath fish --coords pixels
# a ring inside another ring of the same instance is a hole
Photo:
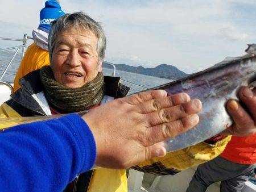
[[[8,102],[7,102],[8,103]],[[0,106],[0,118],[20,116],[7,103]],[[9,122],[10,123],[10,122]],[[2,124],[2,126],[1,126]],[[8,124],[5,126],[0,120],[0,127],[10,127],[16,125]],[[135,169],[154,174],[175,174],[181,170],[191,168],[192,166],[203,164],[217,157],[224,151],[230,136],[217,141],[216,144],[207,144],[201,142],[191,147],[168,153],[165,157],[153,158],[134,166]],[[157,169],[156,169],[157,168]],[[125,170],[99,168],[93,171],[90,179],[88,191],[127,191],[127,179]]]

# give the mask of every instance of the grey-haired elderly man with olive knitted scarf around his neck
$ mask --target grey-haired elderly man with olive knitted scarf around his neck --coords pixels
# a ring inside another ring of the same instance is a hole
[[[65,14],[52,23],[48,38],[50,66],[21,78],[21,89],[2,105],[2,114],[40,116],[78,112],[128,93],[129,87],[121,85],[119,77],[104,77],[101,73],[106,37],[100,24],[89,16],[81,12]],[[95,191],[99,187],[94,181],[97,178],[110,191],[119,186],[127,189],[125,170],[115,169],[85,173],[79,177],[85,181],[78,182],[78,188],[86,190],[91,180],[89,190]]]

